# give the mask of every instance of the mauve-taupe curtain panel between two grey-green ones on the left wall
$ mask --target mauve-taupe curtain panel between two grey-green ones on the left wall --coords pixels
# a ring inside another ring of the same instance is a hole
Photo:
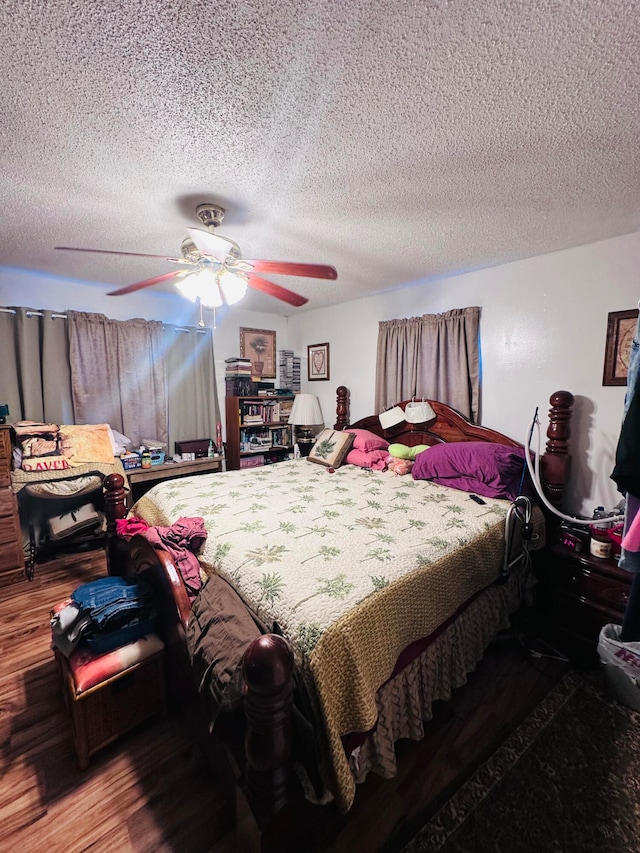
[[[68,312],[75,422],[108,423],[131,439],[167,442],[163,328],[156,320],[110,320]]]

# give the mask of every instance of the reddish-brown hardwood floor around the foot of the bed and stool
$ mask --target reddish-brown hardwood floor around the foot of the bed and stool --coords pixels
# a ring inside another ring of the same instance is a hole
[[[177,715],[144,724],[78,769],[53,654],[49,610],[105,574],[99,552],[38,568],[0,588],[0,849],[19,853],[230,853],[257,834],[228,776],[205,767]],[[566,670],[517,641],[494,644],[466,687],[437,706],[427,737],[398,745],[395,779],[370,776],[347,815],[289,807],[265,836],[280,850],[397,850],[430,803],[545,695]]]

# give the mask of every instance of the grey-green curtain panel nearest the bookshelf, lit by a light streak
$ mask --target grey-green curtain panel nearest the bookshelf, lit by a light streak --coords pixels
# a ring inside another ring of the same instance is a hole
[[[220,423],[211,329],[166,325],[164,366],[169,409],[169,455],[176,441],[214,438]]]

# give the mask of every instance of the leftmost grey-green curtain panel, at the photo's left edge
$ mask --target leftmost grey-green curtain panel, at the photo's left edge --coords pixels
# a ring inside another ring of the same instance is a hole
[[[0,403],[10,421],[73,423],[68,321],[31,308],[0,311]]]

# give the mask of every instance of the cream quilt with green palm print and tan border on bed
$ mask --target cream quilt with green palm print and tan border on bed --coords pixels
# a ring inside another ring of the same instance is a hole
[[[376,690],[400,651],[496,579],[508,507],[301,459],[167,481],[132,515],[156,525],[204,518],[205,571],[229,580],[266,625],[277,622],[314,685],[334,793],[348,807],[355,788],[341,736],[375,725]]]

